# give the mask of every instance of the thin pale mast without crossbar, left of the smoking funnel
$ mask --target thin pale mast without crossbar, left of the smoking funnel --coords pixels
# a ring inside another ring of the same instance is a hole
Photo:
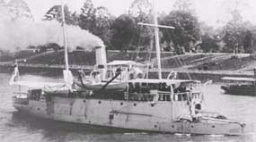
[[[68,55],[67,55],[67,46],[66,46],[66,29],[65,29],[65,13],[64,13],[64,3],[61,4],[61,15],[62,15],[62,30],[63,30],[63,44],[65,50],[65,68],[68,71]]]

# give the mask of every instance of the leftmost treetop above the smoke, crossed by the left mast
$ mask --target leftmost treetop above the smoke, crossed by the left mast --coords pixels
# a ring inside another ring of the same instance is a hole
[[[43,21],[52,21],[56,20],[62,22],[62,14],[61,14],[61,5],[57,4],[52,6],[49,11],[44,15]],[[67,5],[64,6],[64,13],[65,13],[65,21],[68,25],[76,25],[77,24],[77,16],[75,13],[71,13],[68,10]]]

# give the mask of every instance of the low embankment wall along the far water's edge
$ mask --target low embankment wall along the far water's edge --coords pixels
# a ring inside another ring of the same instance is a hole
[[[49,72],[49,74],[59,74],[62,73],[62,70],[65,69],[65,65],[62,64],[31,64],[31,63],[19,63],[19,69],[22,73],[31,73],[31,72]],[[77,75],[78,70],[92,71],[93,66],[88,65],[70,65],[71,71]],[[177,71],[179,79],[198,79],[201,81],[206,81],[212,79],[215,82],[222,81],[221,78],[228,77],[247,77],[253,78],[253,71],[202,71],[202,70],[182,70],[179,69],[162,69],[163,79],[167,78],[169,72]],[[13,63],[0,63],[0,72],[12,73],[13,72]],[[153,68],[149,70],[149,77],[152,79],[157,78],[157,69]],[[223,81],[222,81],[223,82]]]

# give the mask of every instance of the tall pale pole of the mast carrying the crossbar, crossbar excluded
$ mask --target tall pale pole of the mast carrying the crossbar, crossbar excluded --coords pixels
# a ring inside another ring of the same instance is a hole
[[[153,13],[154,13],[154,39],[155,39],[155,51],[156,51],[156,59],[157,59],[157,66],[158,66],[158,79],[162,79],[162,68],[161,68],[161,51],[159,45],[159,33],[158,33],[158,23],[157,23],[157,16],[155,10],[155,4],[153,0]]]

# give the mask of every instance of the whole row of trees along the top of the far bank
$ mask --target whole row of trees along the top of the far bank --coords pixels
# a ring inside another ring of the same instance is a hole
[[[229,11],[232,19],[224,27],[214,29],[200,22],[193,9],[193,0],[176,0],[171,13],[162,13],[161,25],[175,29],[160,28],[161,46],[164,50],[172,50],[184,54],[192,50],[203,52],[253,52],[256,43],[256,28],[244,22],[241,15],[242,3],[236,3]],[[233,0],[230,0],[233,1]],[[228,4],[228,7],[231,3]],[[138,22],[153,23],[153,7],[150,0],[134,0],[128,13],[115,18],[103,6],[94,7],[92,0],[86,0],[81,13],[72,13],[65,5],[66,24],[79,25],[94,35],[102,38],[109,49],[148,50],[153,44],[154,28],[138,25]],[[45,21],[61,22],[61,6],[54,5],[45,14]]]

